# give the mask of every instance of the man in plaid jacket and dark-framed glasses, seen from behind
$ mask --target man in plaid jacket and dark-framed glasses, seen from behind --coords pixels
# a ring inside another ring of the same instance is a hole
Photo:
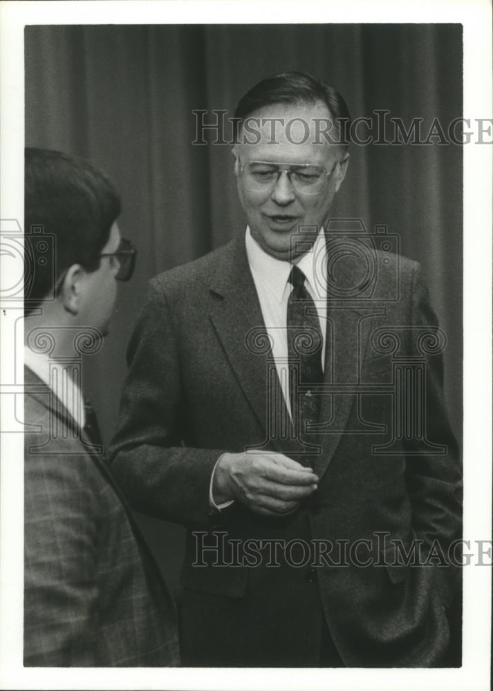
[[[136,249],[101,171],[26,149],[24,664],[178,664],[174,605],[81,388]]]

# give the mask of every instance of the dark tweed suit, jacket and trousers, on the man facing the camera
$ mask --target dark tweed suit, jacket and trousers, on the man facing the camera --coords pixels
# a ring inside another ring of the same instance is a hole
[[[223,452],[257,446],[302,460],[304,451],[275,422],[286,406],[243,236],[149,284],[129,345],[112,469],[136,509],[189,529],[184,664],[317,666],[323,619],[344,665],[443,661],[446,608],[457,596],[448,550],[461,537],[461,468],[440,332],[418,264],[372,256],[368,280],[361,252],[339,253],[329,276],[319,489],[279,519],[241,502],[219,517],[209,506]],[[293,556],[299,567],[234,556],[233,544],[250,540],[251,551],[269,539],[324,545],[328,554],[308,563]],[[418,564],[396,546],[409,553],[416,540]],[[356,545],[349,559],[340,557],[345,544]],[[203,545],[212,549],[198,558]],[[421,563],[437,545],[443,565]]]

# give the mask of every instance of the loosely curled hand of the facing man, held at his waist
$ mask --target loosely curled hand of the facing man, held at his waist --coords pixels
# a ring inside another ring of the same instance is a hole
[[[282,453],[225,453],[216,466],[216,504],[237,499],[255,513],[292,513],[317,489],[318,477]]]

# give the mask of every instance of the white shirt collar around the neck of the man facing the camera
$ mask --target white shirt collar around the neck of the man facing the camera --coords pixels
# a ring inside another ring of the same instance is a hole
[[[250,269],[280,303],[286,290],[292,264],[267,254],[252,238],[248,226],[245,233],[245,246]],[[326,261],[327,247],[324,229],[321,228],[310,252],[306,252],[297,262],[297,266],[305,274],[312,292],[321,289],[326,292],[326,282],[323,280],[326,276]]]

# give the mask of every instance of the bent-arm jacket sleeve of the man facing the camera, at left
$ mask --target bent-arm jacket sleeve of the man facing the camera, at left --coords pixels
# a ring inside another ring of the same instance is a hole
[[[227,449],[184,446],[186,397],[167,299],[149,284],[127,353],[129,372],[111,469],[134,509],[186,527],[210,527],[210,478]]]

